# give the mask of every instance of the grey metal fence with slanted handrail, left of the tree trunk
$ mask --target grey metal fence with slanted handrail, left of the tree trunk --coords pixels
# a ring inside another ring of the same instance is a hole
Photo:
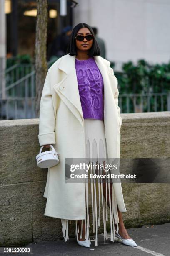
[[[47,63],[48,67],[55,61]],[[0,91],[0,120],[35,118],[35,69],[16,64],[5,71],[5,97]]]

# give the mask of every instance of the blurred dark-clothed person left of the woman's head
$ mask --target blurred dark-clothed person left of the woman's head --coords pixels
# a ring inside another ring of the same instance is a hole
[[[48,49],[48,59],[52,56],[61,57],[66,54],[67,45],[70,41],[70,34],[72,31],[71,26],[66,26],[62,29],[61,34],[55,36]]]

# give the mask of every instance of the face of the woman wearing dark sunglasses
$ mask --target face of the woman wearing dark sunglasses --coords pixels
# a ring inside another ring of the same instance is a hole
[[[91,32],[88,28],[80,28],[79,31],[77,32],[77,35],[81,35],[81,36],[87,36],[89,34],[91,34]],[[76,44],[77,49],[79,49],[81,51],[88,51],[92,47],[92,41],[93,41],[93,39],[90,41],[87,41],[87,39],[84,38],[84,40],[80,42],[75,39],[75,44]],[[87,44],[87,46],[83,46],[83,44]]]

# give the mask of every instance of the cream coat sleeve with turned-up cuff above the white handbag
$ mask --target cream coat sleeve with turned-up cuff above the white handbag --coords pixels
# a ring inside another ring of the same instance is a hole
[[[40,100],[39,134],[40,146],[55,144],[55,113],[52,103],[49,72],[47,72]]]

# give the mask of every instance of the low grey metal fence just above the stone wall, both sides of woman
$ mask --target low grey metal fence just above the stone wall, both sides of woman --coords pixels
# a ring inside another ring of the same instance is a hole
[[[26,81],[25,87],[28,87]],[[25,92],[29,95],[28,89]],[[119,95],[119,106],[121,113],[170,111],[170,92]],[[35,118],[35,97],[0,100],[0,117],[1,120]]]

